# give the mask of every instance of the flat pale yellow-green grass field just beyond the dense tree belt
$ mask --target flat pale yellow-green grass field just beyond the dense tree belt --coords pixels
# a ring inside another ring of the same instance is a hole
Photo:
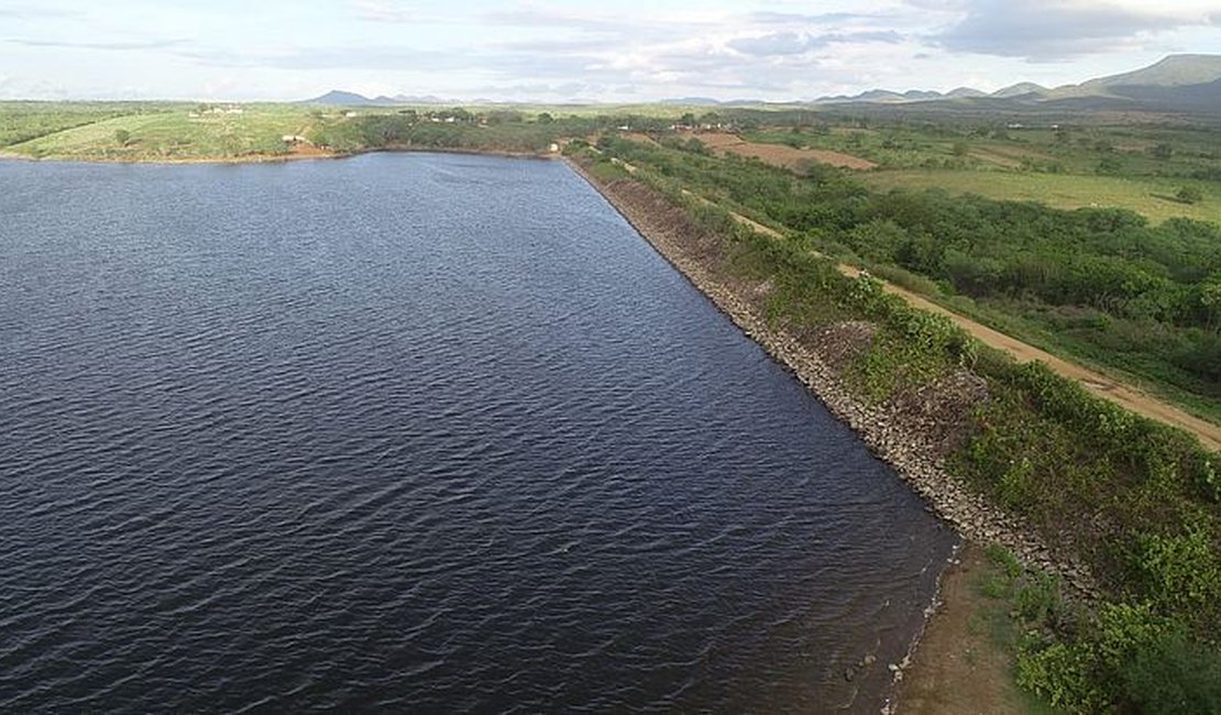
[[[954,194],[1039,201],[1057,209],[1129,209],[1154,223],[1176,216],[1221,222],[1221,185],[1198,179],[969,170],[878,171],[861,174],[861,178],[883,190],[940,188]],[[1176,192],[1187,185],[1198,188],[1204,199],[1197,204],[1176,200]]]

